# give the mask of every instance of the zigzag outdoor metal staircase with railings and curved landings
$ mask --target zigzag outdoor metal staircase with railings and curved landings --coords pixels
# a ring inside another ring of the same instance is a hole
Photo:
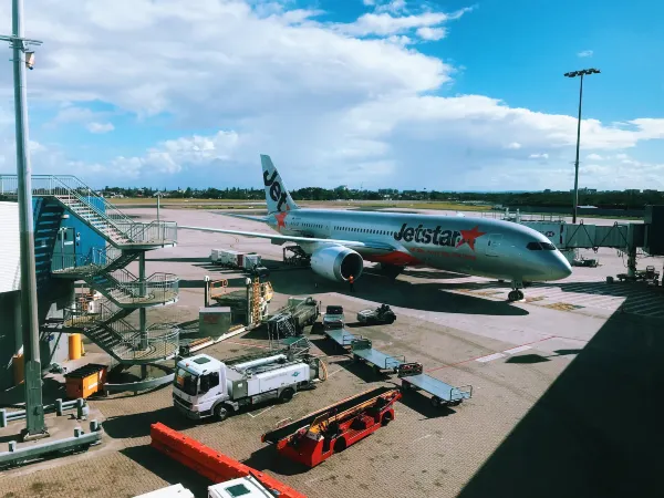
[[[172,356],[179,345],[179,330],[169,324],[148,326],[146,309],[176,302],[178,278],[170,273],[146,277],[145,252],[175,246],[177,225],[135,221],[74,176],[33,175],[32,196],[51,206],[54,215],[71,214],[106,241],[106,247],[92,248],[89,255],[55,256],[52,239],[61,217],[54,216],[44,231],[50,238],[40,247],[45,248],[43,262],[50,263],[50,273],[48,266],[44,268],[48,278],[83,280],[91,291],[104,297],[94,301],[94,307],[98,305],[94,313],[87,304],[76,302],[68,310],[64,329],[81,331],[121,363],[142,364]],[[0,199],[17,198],[17,175],[0,175]],[[125,268],[135,260],[138,277]],[[136,310],[138,326],[126,320]]]

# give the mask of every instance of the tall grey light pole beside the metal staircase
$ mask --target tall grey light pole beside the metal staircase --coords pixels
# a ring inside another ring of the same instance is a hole
[[[32,228],[32,174],[28,148],[28,106],[25,102],[25,68],[32,69],[34,53],[29,45],[39,40],[23,38],[23,2],[12,1],[12,33],[0,35],[9,41],[13,56],[17,177],[19,198],[19,227],[21,248],[21,329],[23,331],[23,359],[25,377],[25,430],[23,439],[48,436],[41,391],[41,361],[39,351],[39,323],[37,317],[37,278],[34,270],[34,230]]]

